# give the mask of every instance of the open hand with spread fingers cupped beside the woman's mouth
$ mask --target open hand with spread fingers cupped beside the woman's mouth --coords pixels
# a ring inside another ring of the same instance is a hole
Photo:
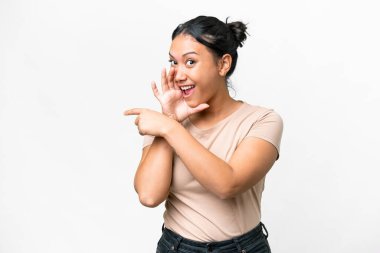
[[[200,104],[190,107],[183,98],[182,90],[174,82],[175,69],[170,68],[168,75],[166,69],[161,72],[161,90],[158,91],[155,82],[152,82],[154,96],[161,104],[162,113],[172,119],[182,122],[190,115],[200,112],[209,107],[208,104]]]

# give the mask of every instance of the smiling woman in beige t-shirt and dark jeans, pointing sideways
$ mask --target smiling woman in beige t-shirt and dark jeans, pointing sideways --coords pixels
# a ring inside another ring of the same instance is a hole
[[[157,252],[270,252],[260,202],[283,125],[274,110],[229,95],[246,29],[208,16],[180,24],[162,91],[152,83],[162,112],[125,112],[145,135],[135,175],[140,202],[165,201]]]

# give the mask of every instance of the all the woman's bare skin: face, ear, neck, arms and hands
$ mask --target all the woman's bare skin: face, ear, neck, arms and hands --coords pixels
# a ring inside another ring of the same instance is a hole
[[[162,113],[145,108],[124,113],[137,116],[135,124],[140,134],[156,136],[152,145],[143,149],[135,175],[140,202],[155,207],[168,197],[174,151],[194,178],[219,198],[232,198],[248,190],[268,173],[277,159],[277,149],[271,143],[247,138],[230,161],[223,161],[180,123],[189,118],[198,128],[207,129],[241,106],[241,102],[230,97],[226,86],[231,56],[216,59],[191,36],[178,35],[172,41],[169,57],[172,67],[168,74],[162,71],[161,93],[152,83]],[[186,85],[195,85],[189,97],[184,97],[180,90]]]

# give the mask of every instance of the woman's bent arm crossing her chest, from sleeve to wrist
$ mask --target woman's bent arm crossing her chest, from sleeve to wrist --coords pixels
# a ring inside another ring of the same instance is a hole
[[[251,137],[243,140],[231,160],[225,162],[202,146],[179,123],[172,121],[166,129],[162,136],[190,173],[222,199],[234,197],[255,185],[277,159],[278,152],[274,145]]]

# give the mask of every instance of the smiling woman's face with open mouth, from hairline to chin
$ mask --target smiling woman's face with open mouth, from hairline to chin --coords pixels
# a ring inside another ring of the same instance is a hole
[[[209,103],[225,90],[225,78],[214,55],[190,35],[174,38],[169,57],[175,69],[174,81],[189,106]]]

